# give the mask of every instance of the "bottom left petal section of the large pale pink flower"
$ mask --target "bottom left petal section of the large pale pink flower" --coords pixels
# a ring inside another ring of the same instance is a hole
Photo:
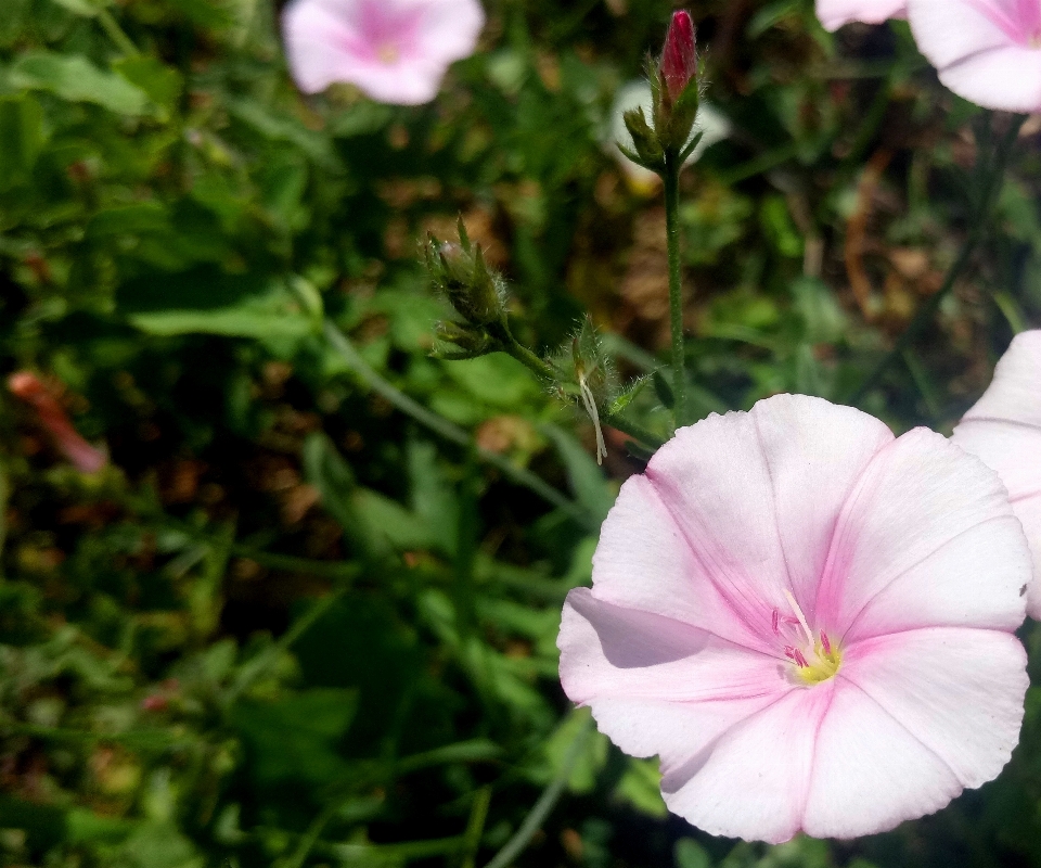
[[[669,810],[711,834],[770,843],[802,828],[802,808],[821,720],[834,681],[797,689],[680,764],[663,761]]]

